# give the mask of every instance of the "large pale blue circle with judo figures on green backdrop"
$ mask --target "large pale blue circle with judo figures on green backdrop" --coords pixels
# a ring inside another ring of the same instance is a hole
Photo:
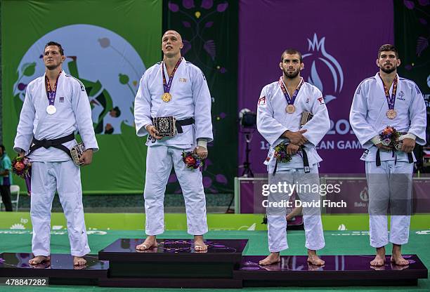
[[[84,84],[96,134],[120,134],[124,127],[134,127],[133,102],[145,65],[122,36],[95,25],[60,27],[28,49],[18,65],[18,79],[13,85],[15,108],[20,109],[30,81],[44,74],[42,53],[48,41],[63,46],[64,71]]]

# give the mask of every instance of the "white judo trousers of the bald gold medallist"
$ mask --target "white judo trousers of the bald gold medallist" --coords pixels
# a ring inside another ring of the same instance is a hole
[[[185,201],[188,234],[202,235],[208,231],[202,173],[198,168],[185,166],[182,160],[183,151],[181,148],[166,145],[148,147],[143,192],[147,235],[158,235],[164,232],[164,192],[172,165]],[[193,150],[185,150],[187,151]]]

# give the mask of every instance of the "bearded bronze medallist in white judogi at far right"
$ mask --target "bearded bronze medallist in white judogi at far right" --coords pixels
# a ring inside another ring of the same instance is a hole
[[[412,151],[415,143],[426,144],[426,106],[418,86],[398,76],[400,59],[395,46],[381,46],[376,64],[379,72],[358,85],[349,119],[365,148],[361,160],[365,161],[369,190],[370,245],[376,248],[370,265],[384,265],[385,246],[391,242],[391,262],[405,266],[409,263],[402,256],[401,246],[408,243],[409,237],[416,161]],[[395,128],[398,135],[387,136],[387,126]],[[395,146],[389,143],[391,139]]]

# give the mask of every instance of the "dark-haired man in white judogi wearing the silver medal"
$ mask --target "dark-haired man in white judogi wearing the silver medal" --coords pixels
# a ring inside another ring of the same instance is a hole
[[[53,41],[46,44],[43,60],[44,76],[27,86],[13,147],[32,161],[30,215],[34,258],[29,263],[37,265],[50,260],[51,205],[57,191],[67,220],[73,264],[84,265],[83,257],[90,248],[81,174],[70,150],[77,145],[74,132],[79,131],[86,146],[79,163],[91,164],[93,151],[98,150],[91,107],[81,81],[61,69],[65,55],[60,44]]]

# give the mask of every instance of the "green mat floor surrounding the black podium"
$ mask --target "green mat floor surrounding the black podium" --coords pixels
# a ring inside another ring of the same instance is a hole
[[[10,234],[15,232],[18,234]],[[67,232],[53,232],[51,235],[52,253],[70,253]],[[58,234],[56,234],[58,233]],[[99,233],[99,234],[97,234]],[[28,230],[0,230],[0,252],[31,252],[31,237]],[[143,237],[138,231],[112,231],[103,230],[89,234],[89,245],[92,253],[97,253],[100,249],[119,238],[139,238]],[[192,238],[183,231],[167,231],[159,238]],[[210,231],[206,235],[207,239],[249,239],[245,255],[265,255],[268,253],[267,234],[264,231]],[[360,231],[326,231],[326,247],[319,252],[320,255],[358,255],[372,254],[374,249],[369,245],[368,232]],[[304,232],[288,232],[289,249],[282,252],[282,255],[305,255]],[[403,246],[403,253],[417,253],[426,267],[430,267],[430,232],[410,232],[409,244]],[[391,251],[391,246],[387,246],[387,253]],[[34,291],[40,287],[6,287],[1,286],[0,291]],[[100,288],[97,286],[48,286],[44,289],[50,291],[122,291],[124,288]],[[172,289],[172,288],[125,288],[129,291],[240,291],[237,289]],[[430,291],[430,279],[420,279],[418,286],[411,287],[335,287],[335,288],[301,288],[301,287],[280,287],[280,288],[243,288],[245,291]]]

